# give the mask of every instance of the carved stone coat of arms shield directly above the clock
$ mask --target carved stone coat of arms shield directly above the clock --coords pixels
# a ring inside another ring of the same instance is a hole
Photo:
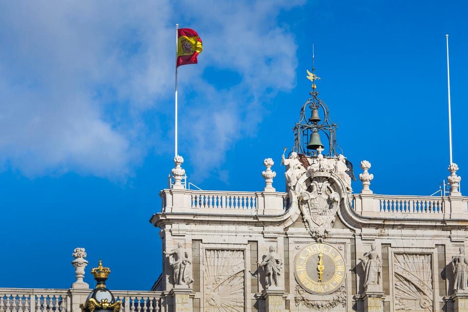
[[[299,196],[302,219],[312,237],[322,242],[330,235],[340,196],[327,180],[313,180],[311,188],[312,192],[305,191]]]

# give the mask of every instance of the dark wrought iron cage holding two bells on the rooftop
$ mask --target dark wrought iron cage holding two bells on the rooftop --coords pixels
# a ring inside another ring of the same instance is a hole
[[[302,106],[301,117],[292,129],[294,132],[294,147],[292,151],[306,156],[316,156],[318,154],[316,149],[308,148],[312,133],[315,132],[320,137],[328,139],[328,145],[322,143],[324,148],[322,154],[333,157],[337,155],[337,150],[341,151],[336,143],[338,124],[331,121],[328,106],[317,97],[318,91],[314,87],[315,85],[312,86],[313,90],[310,92],[312,98],[309,98]],[[320,116],[323,116],[323,118]],[[315,135],[314,138],[316,137]],[[341,153],[343,152],[341,151]]]

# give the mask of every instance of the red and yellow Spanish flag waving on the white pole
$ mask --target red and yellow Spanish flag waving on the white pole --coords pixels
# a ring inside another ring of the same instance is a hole
[[[177,66],[196,64],[196,57],[203,50],[200,37],[190,28],[177,29]]]

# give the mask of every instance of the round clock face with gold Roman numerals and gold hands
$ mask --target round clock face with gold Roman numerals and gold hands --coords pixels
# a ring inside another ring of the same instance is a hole
[[[335,291],[345,277],[345,261],[327,244],[311,244],[296,257],[296,279],[309,292],[325,294]]]

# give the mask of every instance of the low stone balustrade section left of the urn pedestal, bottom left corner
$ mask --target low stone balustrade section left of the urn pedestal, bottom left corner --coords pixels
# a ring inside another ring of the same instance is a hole
[[[0,312],[65,312],[69,305],[68,289],[0,288]]]

